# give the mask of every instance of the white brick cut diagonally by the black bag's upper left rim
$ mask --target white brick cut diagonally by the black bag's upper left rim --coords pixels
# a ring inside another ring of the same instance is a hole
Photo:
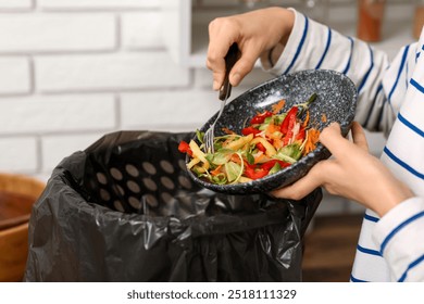
[[[41,139],[41,170],[52,170],[64,157],[76,151],[85,150],[102,136],[101,132],[43,136]]]

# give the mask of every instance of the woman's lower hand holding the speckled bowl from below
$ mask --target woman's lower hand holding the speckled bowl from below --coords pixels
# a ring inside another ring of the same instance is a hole
[[[317,163],[307,176],[272,194],[299,200],[322,186],[329,193],[357,201],[379,216],[412,198],[412,191],[369,153],[365,134],[358,123],[352,124],[351,132],[353,142],[341,136],[338,124],[325,128],[320,141],[334,157]]]

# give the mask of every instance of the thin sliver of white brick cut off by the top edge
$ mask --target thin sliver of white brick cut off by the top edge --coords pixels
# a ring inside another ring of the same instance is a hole
[[[146,9],[159,8],[162,0],[38,0],[42,9]]]

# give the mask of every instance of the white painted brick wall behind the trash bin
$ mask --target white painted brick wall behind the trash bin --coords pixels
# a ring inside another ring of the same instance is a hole
[[[216,111],[170,56],[161,5],[0,0],[0,172],[47,179],[107,132],[188,131]]]

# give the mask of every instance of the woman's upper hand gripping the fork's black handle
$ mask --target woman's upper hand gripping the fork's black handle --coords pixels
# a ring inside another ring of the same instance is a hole
[[[267,8],[228,17],[219,17],[209,24],[207,66],[213,72],[213,89],[224,81],[224,58],[236,42],[241,52],[229,74],[229,83],[238,86],[252,71],[261,55],[267,55],[277,43],[286,45],[295,22],[294,12],[283,8]]]

